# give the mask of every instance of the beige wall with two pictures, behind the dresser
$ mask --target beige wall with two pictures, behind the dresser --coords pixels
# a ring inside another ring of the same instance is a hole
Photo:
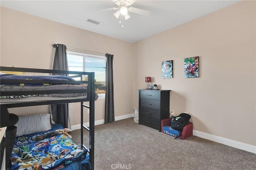
[[[137,88],[152,76],[172,90],[174,115],[192,114],[194,130],[255,146],[255,14],[255,1],[244,1],[136,42]],[[184,58],[196,56],[200,78],[184,78]],[[172,79],[161,78],[166,60],[174,61]]]

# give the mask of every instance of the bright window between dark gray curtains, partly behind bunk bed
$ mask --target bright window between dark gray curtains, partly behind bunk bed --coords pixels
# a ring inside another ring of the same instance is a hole
[[[106,57],[69,51],[67,51],[67,56],[68,70],[95,72],[95,92],[99,98],[104,98],[106,94]]]

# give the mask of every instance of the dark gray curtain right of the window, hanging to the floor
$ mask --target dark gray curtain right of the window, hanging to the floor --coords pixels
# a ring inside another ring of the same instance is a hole
[[[115,121],[114,116],[114,86],[113,86],[113,58],[114,55],[106,54],[106,100],[105,123]]]

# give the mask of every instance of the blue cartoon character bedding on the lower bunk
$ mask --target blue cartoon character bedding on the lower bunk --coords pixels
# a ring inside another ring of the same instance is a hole
[[[64,128],[53,124],[49,131],[16,137],[12,170],[90,170],[87,149],[80,149],[65,131],[56,133],[57,129]]]

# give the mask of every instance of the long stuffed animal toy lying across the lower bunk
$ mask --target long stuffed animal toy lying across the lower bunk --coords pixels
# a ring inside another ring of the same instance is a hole
[[[34,142],[42,141],[45,138],[53,137],[53,136],[60,135],[60,134],[67,135],[71,139],[72,136],[70,136],[68,134],[68,132],[71,132],[71,129],[68,129],[68,128],[58,129],[58,130],[55,130],[55,131],[46,132],[43,135],[35,135],[35,136],[32,137],[32,141],[34,141]]]

